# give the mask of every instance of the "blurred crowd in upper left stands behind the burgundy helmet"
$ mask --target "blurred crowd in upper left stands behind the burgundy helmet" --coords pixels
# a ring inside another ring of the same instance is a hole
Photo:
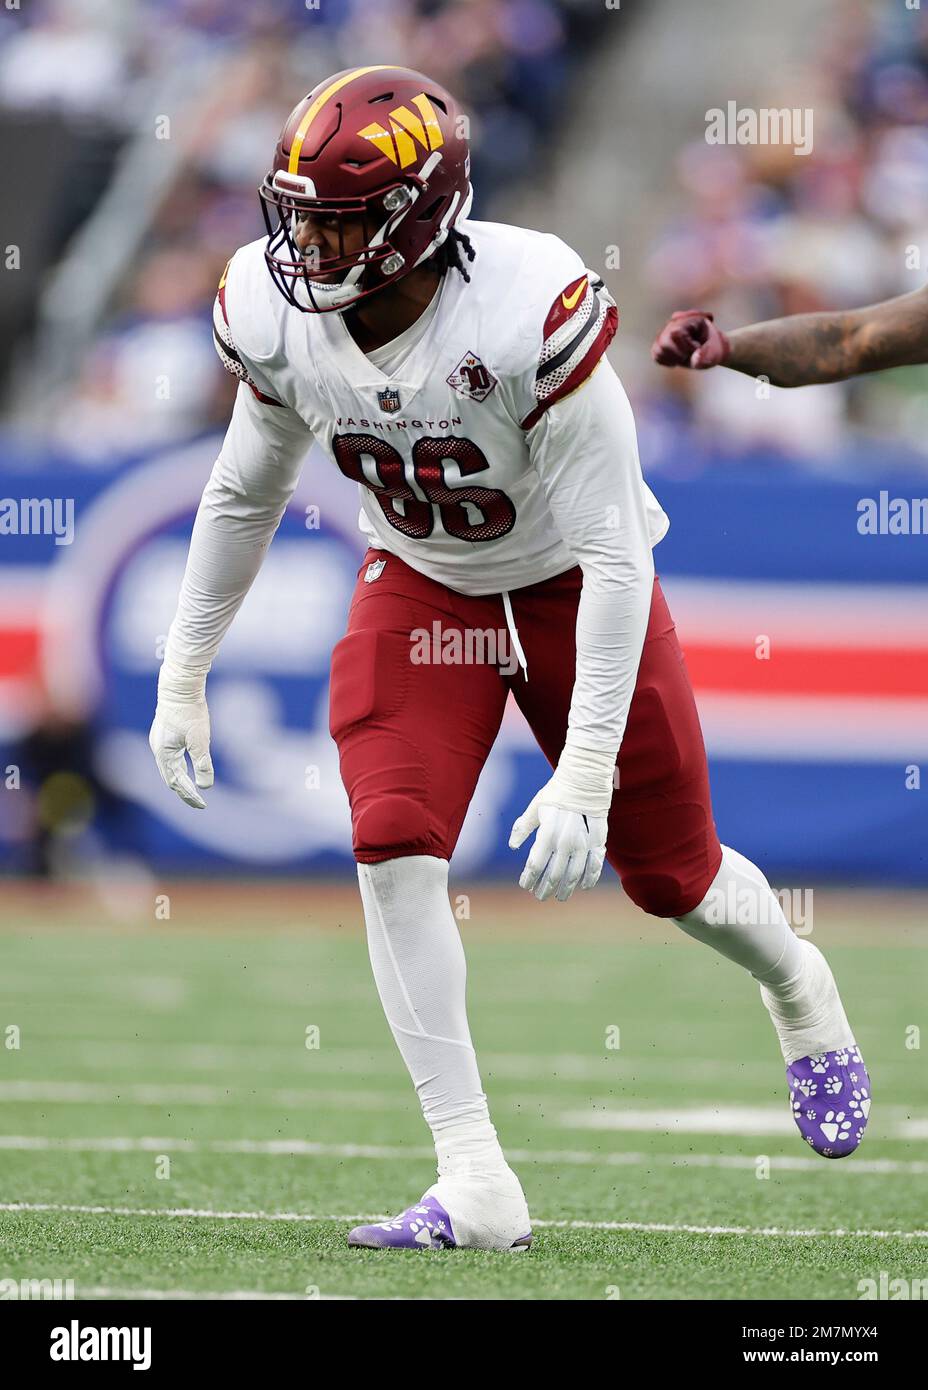
[[[208,309],[229,252],[264,235],[257,185],[321,78],[396,53],[449,86],[472,114],[485,214],[531,167],[602,18],[571,0],[32,0],[0,17],[7,118],[57,115],[101,143],[115,133],[114,167],[150,161],[153,179],[158,139],[174,160],[50,428],[106,464],[224,423],[233,388]]]

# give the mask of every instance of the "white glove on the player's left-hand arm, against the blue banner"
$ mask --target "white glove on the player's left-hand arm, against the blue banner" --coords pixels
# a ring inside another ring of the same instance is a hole
[[[186,670],[165,660],[158,676],[158,708],[149,731],[149,746],[161,777],[181,801],[197,810],[204,810],[206,802],[190,781],[185,753],[190,755],[196,785],[211,787],[206,674],[206,670]]]

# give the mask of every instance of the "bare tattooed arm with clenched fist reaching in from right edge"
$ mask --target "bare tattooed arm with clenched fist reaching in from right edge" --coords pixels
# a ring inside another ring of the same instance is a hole
[[[672,316],[652,348],[663,367],[732,367],[775,386],[845,381],[928,363],[928,286],[845,313],[795,314],[724,334],[711,314]]]

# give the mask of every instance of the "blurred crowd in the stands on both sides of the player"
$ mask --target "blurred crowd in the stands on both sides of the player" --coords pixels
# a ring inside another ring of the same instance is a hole
[[[101,324],[56,391],[53,436],[104,466],[225,421],[233,385],[208,309],[229,250],[263,235],[257,183],[283,117],[317,81],[396,53],[446,83],[472,113],[475,210],[492,215],[502,186],[550,167],[604,18],[585,0],[31,0],[0,13],[0,118],[40,117],[78,142],[68,234],[121,164],[158,188]],[[646,264],[654,327],[677,307],[711,307],[734,327],[924,282],[928,6],[817,7],[807,61],[765,97],[813,107],[813,153],[699,136],[681,147]],[[61,215],[57,189],[44,215]],[[67,249],[68,238],[54,254]],[[789,392],[771,411],[728,373],[650,373],[633,389],[650,421],[696,424],[734,448],[771,436],[827,459],[849,428],[925,449],[920,385],[917,370],[896,373]]]

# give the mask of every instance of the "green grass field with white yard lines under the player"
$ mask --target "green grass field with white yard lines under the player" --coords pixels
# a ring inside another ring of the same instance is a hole
[[[815,892],[875,1094],[859,1154],[828,1162],[792,1127],[736,967],[614,888],[568,906],[475,888],[472,1030],[536,1238],[397,1254],[345,1243],[433,1179],[350,887],[176,885],[168,922],[144,895],[111,922],[89,892],[7,885],[0,1277],[96,1298],[588,1300],[924,1279],[924,909]]]

